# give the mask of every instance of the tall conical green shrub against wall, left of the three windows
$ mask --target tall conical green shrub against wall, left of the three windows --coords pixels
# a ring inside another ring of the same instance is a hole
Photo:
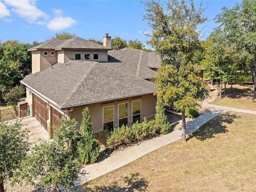
[[[93,134],[89,108],[86,107],[82,114],[81,140],[78,143],[80,162],[82,164],[95,163],[100,154],[100,143]]]

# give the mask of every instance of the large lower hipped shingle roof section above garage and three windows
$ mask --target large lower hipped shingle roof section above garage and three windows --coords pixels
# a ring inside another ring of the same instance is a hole
[[[152,82],[112,69],[106,63],[89,61],[57,63],[52,69],[28,75],[21,83],[62,109],[156,90]]]

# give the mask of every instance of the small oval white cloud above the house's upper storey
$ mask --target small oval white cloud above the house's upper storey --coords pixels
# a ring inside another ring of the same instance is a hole
[[[63,30],[70,28],[72,25],[76,24],[76,20],[71,17],[55,17],[48,24],[47,28],[53,31]]]

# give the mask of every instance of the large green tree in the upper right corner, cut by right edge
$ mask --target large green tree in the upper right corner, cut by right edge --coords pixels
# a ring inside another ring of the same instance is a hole
[[[233,8],[222,8],[216,17],[215,29],[221,42],[241,51],[253,76],[256,98],[256,0],[243,0]]]

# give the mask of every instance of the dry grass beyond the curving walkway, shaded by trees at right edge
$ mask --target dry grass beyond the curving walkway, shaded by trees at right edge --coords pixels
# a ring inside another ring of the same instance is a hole
[[[222,91],[224,95],[224,91]],[[253,88],[250,84],[226,86],[226,96],[222,99],[216,98],[210,104],[228,106],[247,110],[256,110],[256,100],[253,98]]]

